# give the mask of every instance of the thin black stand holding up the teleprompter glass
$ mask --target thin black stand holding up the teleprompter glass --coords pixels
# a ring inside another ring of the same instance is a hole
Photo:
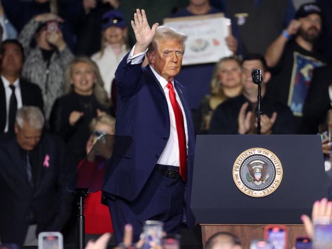
[[[84,198],[87,196],[89,193],[88,188],[76,188],[74,191],[75,195],[79,197],[77,201],[77,206],[78,206],[78,249],[84,249],[85,247],[85,227],[84,227],[84,221],[85,221],[85,216],[84,216]]]

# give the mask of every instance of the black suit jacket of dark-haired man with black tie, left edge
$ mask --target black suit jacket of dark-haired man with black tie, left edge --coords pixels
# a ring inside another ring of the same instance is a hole
[[[29,83],[22,79],[19,80],[21,89],[22,105],[23,106],[37,106],[43,111],[43,99],[41,90],[36,84]],[[0,78],[0,133],[3,133],[6,126],[7,108],[6,108],[6,93],[4,83]]]

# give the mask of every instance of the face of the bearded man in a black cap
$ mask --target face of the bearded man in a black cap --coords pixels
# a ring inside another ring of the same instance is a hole
[[[299,28],[299,35],[309,42],[314,42],[322,29],[322,20],[316,13],[307,15],[306,17],[299,18],[301,26]]]

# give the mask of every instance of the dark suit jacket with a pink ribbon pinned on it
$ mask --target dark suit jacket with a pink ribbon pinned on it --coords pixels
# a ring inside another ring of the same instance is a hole
[[[39,164],[32,188],[22,163],[16,137],[0,140],[0,238],[3,243],[21,245],[34,214],[37,234],[60,231],[71,211],[72,197],[66,190],[69,167],[64,144],[55,135],[44,134],[38,145]],[[49,155],[49,167],[44,165]]]

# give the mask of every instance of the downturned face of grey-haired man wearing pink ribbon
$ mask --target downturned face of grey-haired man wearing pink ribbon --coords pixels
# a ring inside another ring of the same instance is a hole
[[[32,151],[40,141],[41,129],[35,129],[23,121],[22,129],[15,124],[15,134],[18,145],[25,151]]]

